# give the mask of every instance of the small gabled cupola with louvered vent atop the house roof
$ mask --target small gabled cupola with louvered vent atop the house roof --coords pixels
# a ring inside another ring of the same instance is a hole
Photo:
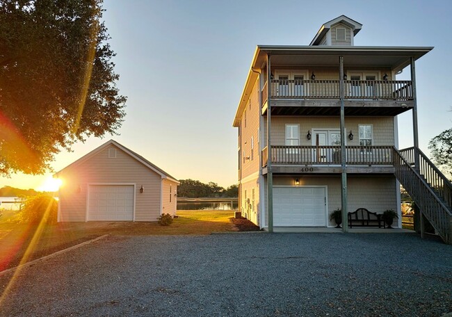
[[[323,24],[309,45],[353,46],[353,38],[361,28],[362,24],[341,15]]]

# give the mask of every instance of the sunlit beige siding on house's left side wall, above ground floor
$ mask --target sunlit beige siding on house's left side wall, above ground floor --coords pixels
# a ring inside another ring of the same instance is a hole
[[[244,118],[241,122],[241,165],[242,165],[242,179],[248,177],[259,170],[260,150],[259,150],[259,136],[257,131],[259,129],[259,118],[261,107],[259,106],[259,80],[255,82],[252,88],[250,100],[246,105],[246,127]],[[251,107],[250,107],[251,104]],[[254,149],[251,149],[254,143]],[[243,151],[249,159],[243,159]],[[253,152],[251,154],[251,151]]]

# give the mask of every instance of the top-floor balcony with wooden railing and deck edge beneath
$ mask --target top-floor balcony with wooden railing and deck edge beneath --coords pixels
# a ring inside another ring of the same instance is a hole
[[[344,81],[345,115],[394,116],[414,106],[411,81]],[[267,83],[261,90],[267,111]],[[272,115],[339,115],[339,80],[271,80]]]

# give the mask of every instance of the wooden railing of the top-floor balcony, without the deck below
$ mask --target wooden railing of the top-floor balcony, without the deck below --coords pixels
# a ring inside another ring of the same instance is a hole
[[[344,83],[346,99],[413,99],[411,81],[344,81]],[[262,90],[262,104],[267,99],[266,91],[265,84]],[[273,79],[271,81],[271,97],[276,99],[339,99],[339,81]]]

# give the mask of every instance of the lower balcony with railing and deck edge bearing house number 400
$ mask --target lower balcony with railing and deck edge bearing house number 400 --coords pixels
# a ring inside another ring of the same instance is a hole
[[[392,145],[347,146],[347,172],[391,174],[394,172],[393,149]],[[337,145],[272,145],[271,155],[268,155],[268,147],[265,147],[261,158],[264,174],[269,158],[275,173],[342,172],[341,147]]]

